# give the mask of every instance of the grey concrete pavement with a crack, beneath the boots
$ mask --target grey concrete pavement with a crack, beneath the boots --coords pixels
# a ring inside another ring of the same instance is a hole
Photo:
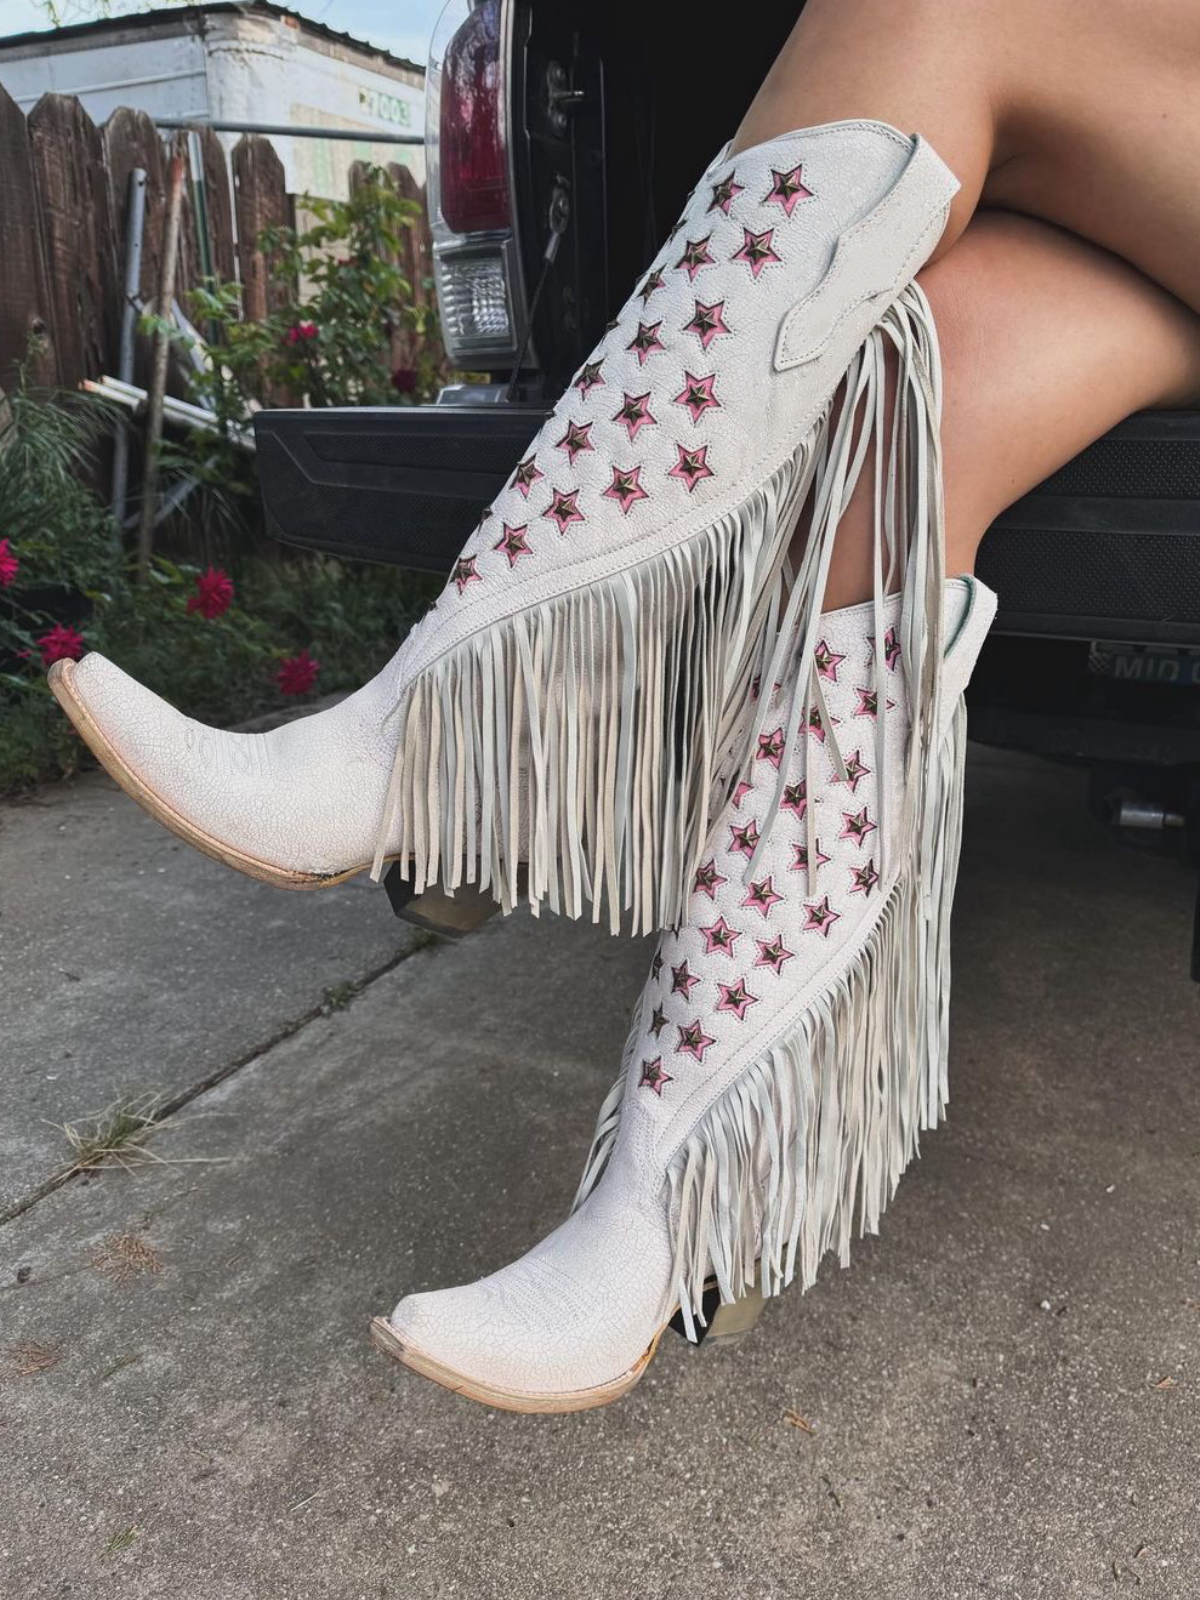
[[[1082,790],[971,752],[952,1115],[883,1237],[741,1346],[670,1339],[626,1402],[565,1418],[458,1400],[366,1322],[558,1221],[648,947],[518,915],[406,954],[358,890],[262,899],[165,846],[123,955],[90,946],[112,976],[70,1035],[86,1074],[51,1094],[6,1070],[5,1139],[21,1154],[48,1106],[102,1098],[139,1038],[142,1064],[162,1038],[171,1082],[198,1062],[202,1083],[286,1037],[155,1136],[211,1160],[77,1179],[0,1227],[5,1600],[1200,1592],[1190,883],[1118,851]],[[152,866],[115,806],[112,851]],[[96,870],[94,827],[18,826],[22,854]],[[122,926],[130,888],[115,866],[99,882],[67,910],[75,950],[88,918]],[[3,962],[30,930],[16,1016],[45,1064],[54,997],[86,978],[45,978],[62,909],[32,870],[24,891],[32,915],[5,880]],[[192,957],[163,938],[182,925]],[[120,1005],[120,958],[141,1006]]]

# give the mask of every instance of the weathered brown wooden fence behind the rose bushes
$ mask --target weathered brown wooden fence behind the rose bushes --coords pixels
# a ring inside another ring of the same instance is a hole
[[[198,147],[198,171],[189,146],[192,154]],[[126,109],[98,128],[64,94],[45,94],[26,117],[0,86],[0,392],[11,386],[30,334],[42,336],[37,382],[74,389],[83,378],[117,373],[130,173],[147,174],[141,299],[149,304],[158,290],[174,150],[187,162],[176,298],[186,304],[187,290],[211,270],[237,278],[245,315],[261,317],[280,290],[254,242],[261,229],[294,218],[269,141],[243,136],[227,158],[211,128],[197,126],[189,141]],[[405,230],[398,264],[414,301],[426,304],[432,246],[424,189],[408,168],[389,170],[398,190],[422,206],[418,226]],[[406,355],[411,346],[400,334],[397,365]],[[139,339],[133,382],[146,386],[147,374],[149,341]]]

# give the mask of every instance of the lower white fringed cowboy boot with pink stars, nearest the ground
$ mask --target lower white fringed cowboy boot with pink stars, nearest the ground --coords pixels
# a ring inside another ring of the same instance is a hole
[[[851,1230],[875,1230],[946,1102],[962,691],[994,610],[974,579],[946,586],[925,726],[899,600],[818,619],[806,734],[789,760],[779,696],[757,718],[576,1210],[501,1272],[402,1299],[373,1325],[386,1350],[490,1405],[603,1405],[677,1312],[696,1336],[706,1291],[714,1331],[744,1325],[760,1294],[808,1286],[826,1250],[845,1262]]]

